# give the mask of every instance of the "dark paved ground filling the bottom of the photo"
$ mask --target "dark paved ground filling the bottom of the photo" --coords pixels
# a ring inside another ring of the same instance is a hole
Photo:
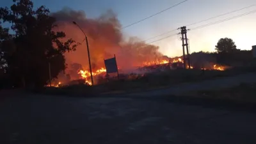
[[[0,99],[0,143],[256,143],[256,113],[172,99]]]

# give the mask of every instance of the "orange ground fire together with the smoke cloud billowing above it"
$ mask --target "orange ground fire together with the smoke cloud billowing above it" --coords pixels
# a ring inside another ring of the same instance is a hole
[[[60,73],[58,80],[52,85],[58,86],[76,80],[84,80],[82,83],[92,85],[90,71],[88,71],[88,53],[84,43],[84,34],[77,25],[72,24],[72,21],[79,24],[88,37],[93,77],[106,76],[104,59],[109,59],[113,55],[116,55],[118,70],[125,75],[184,67],[181,57],[172,59],[161,54],[156,45],[148,45],[134,37],[127,39],[119,30],[121,24],[117,15],[111,10],[103,13],[100,17],[88,18],[84,11],[64,8],[52,13],[52,16],[56,17],[58,22],[56,30],[65,32],[67,38],[73,38],[81,43],[75,52],[65,54],[67,69]],[[201,66],[196,69],[223,71],[225,68],[216,64],[208,64],[205,68]]]

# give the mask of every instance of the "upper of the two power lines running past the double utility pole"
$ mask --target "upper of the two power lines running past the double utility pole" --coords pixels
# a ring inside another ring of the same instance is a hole
[[[244,10],[244,9],[246,9],[246,8],[251,8],[251,7],[253,7],[253,6],[256,6],[256,4],[252,4],[252,5],[250,5],[250,6],[246,6],[246,7],[244,7],[244,8],[240,8],[240,9],[238,9],[238,10],[229,11],[229,12],[227,12],[227,13],[223,13],[223,14],[221,14],[221,15],[217,15],[217,16],[214,16],[214,17],[211,17],[211,18],[207,18],[207,19],[205,19],[205,20],[200,20],[200,21],[198,21],[198,22],[194,22],[194,23],[188,24],[188,25],[186,25],[186,26],[195,25],[195,24],[198,24],[198,23],[200,23],[200,22],[205,22],[205,21],[207,21],[207,20],[211,20],[211,19],[213,19],[213,18],[221,17],[221,16],[223,16],[223,15],[228,15],[228,14],[230,14],[230,13],[234,13],[234,12],[237,12],[237,11],[241,11],[241,10]],[[159,35],[157,35],[157,36],[148,38],[147,40],[144,40],[144,41],[152,40],[152,39],[154,39],[154,38],[157,38],[157,37],[159,37],[159,36],[163,36],[164,34],[168,34],[168,33],[170,33],[170,32],[176,31],[176,30],[177,30],[177,29],[172,29],[171,31],[167,31],[167,32],[161,33],[161,34],[159,34]]]

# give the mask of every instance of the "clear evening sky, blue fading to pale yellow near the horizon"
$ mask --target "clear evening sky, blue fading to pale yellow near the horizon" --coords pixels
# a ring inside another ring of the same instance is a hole
[[[118,14],[118,19],[123,26],[148,17],[158,11],[164,10],[183,0],[34,0],[36,7],[45,5],[52,12],[61,10],[63,7],[69,7],[74,10],[85,11],[87,17],[98,17],[106,10],[112,9]],[[1,0],[1,6],[10,6],[11,0]],[[183,25],[204,20],[205,18],[214,17],[221,13],[237,10],[245,6],[256,4],[255,0],[189,0],[184,4],[164,11],[163,13],[149,18],[139,24],[132,25],[123,29],[125,36],[138,36],[141,40],[152,38],[172,29]],[[193,28],[198,25],[208,24],[223,18],[232,17],[241,13],[256,10],[256,6],[243,11],[237,11],[230,15],[215,18],[207,22],[191,25]],[[249,50],[252,45],[256,45],[256,13],[236,18],[220,24],[211,25],[202,29],[188,32],[191,52],[214,51],[214,45],[220,38],[232,38],[237,48]],[[154,40],[165,36],[178,33],[179,31],[165,34]],[[151,41],[154,41],[151,40]],[[150,41],[147,41],[150,42]],[[154,45],[159,45],[160,51],[164,55],[175,56],[182,55],[181,41],[179,36],[173,36]]]

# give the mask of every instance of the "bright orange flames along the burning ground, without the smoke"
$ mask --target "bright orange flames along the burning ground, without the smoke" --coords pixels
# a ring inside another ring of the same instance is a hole
[[[131,71],[129,72],[122,71],[122,69],[120,68],[118,68],[118,71],[120,75],[126,75],[125,78],[132,80],[134,79],[133,78],[134,76],[132,75],[136,73],[137,73],[137,76],[138,75],[144,76],[144,74],[146,73],[154,73],[156,71],[165,71],[168,69],[183,69],[184,68],[183,64],[184,62],[182,61],[182,59],[178,58],[178,59],[172,59],[170,61],[163,60],[163,61],[143,62],[142,66],[136,69],[135,68],[131,69]],[[193,69],[193,66],[191,66],[191,69]],[[211,67],[208,66],[207,68],[201,68],[201,69],[224,71],[225,67],[218,66],[217,64],[212,64]],[[72,85],[77,83],[86,83],[88,85],[92,85],[92,82],[90,81],[91,75],[89,70],[84,70],[83,67],[80,67],[80,69],[75,70],[75,73],[76,73],[76,76],[75,76],[76,78],[74,78],[74,73],[72,75],[73,78],[70,78],[70,74],[72,74],[71,71],[67,75],[62,75],[62,76],[60,75],[58,80],[52,86],[60,87],[61,85]],[[106,79],[106,69],[105,68],[95,69],[92,71],[92,75],[94,80],[98,80],[99,78]],[[67,80],[67,77],[68,77],[68,80]],[[114,75],[114,77],[116,78],[116,75]],[[63,79],[63,78],[66,78],[66,79]],[[97,81],[96,81],[96,84],[97,84]]]

